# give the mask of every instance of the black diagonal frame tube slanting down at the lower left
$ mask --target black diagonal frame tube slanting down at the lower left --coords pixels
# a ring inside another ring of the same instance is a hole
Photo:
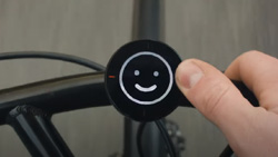
[[[10,111],[7,120],[32,156],[73,157],[50,116],[41,109],[18,106]]]

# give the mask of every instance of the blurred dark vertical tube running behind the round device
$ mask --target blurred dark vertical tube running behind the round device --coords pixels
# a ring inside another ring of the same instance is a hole
[[[151,39],[163,41],[165,1],[135,0],[132,40]],[[125,118],[123,157],[139,157],[137,131],[139,122]],[[142,135],[142,150],[146,157],[165,157],[162,139],[157,126],[149,122]]]

